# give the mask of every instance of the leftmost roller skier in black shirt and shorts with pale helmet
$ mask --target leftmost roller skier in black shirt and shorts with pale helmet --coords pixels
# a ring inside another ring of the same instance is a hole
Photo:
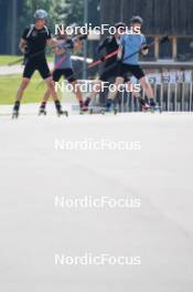
[[[46,28],[47,13],[44,10],[36,10],[34,13],[34,24],[26,28],[20,40],[20,50],[24,53],[24,71],[23,79],[17,93],[15,103],[13,106],[13,117],[19,116],[20,102],[23,96],[23,92],[30,83],[35,70],[39,71],[42,79],[45,80],[47,87],[55,102],[57,114],[63,114],[61,103],[57,100],[54,84],[52,82],[50,69],[45,59],[46,44],[54,45],[55,42],[52,39],[51,31]]]

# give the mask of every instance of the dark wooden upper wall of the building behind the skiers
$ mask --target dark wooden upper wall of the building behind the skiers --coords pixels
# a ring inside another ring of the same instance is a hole
[[[192,13],[193,0],[100,0],[101,23],[128,23],[139,14],[144,19],[147,34],[192,35]]]

